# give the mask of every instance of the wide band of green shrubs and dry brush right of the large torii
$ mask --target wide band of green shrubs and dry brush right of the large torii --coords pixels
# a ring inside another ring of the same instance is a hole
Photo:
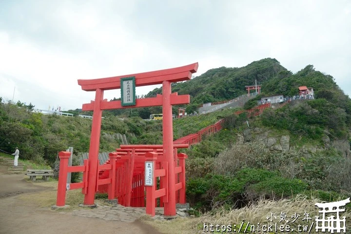
[[[233,145],[216,156],[190,156],[187,197],[206,210],[241,207],[262,195],[272,199],[315,191],[330,201],[350,195],[350,170],[351,160],[333,149],[304,154],[270,151],[257,143]]]

